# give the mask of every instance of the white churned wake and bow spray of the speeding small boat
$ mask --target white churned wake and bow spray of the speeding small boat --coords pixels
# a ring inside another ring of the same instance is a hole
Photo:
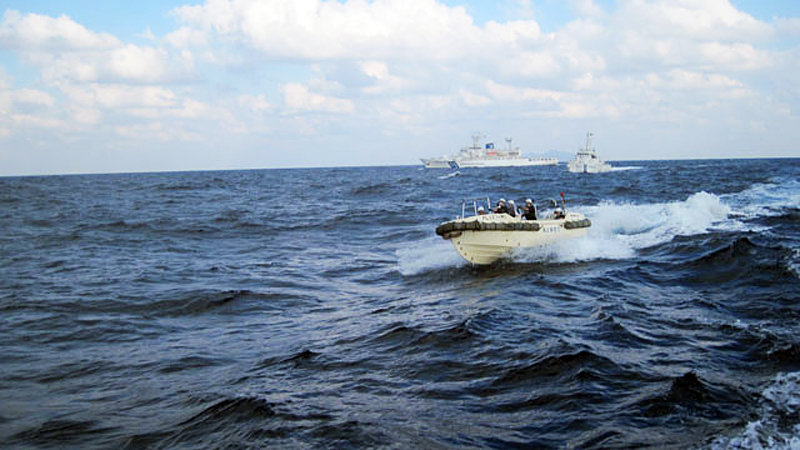
[[[715,195],[705,191],[686,200],[634,204],[601,202],[577,208],[592,221],[586,236],[541,247],[518,249],[511,260],[518,263],[575,263],[603,259],[628,259],[642,249],[672,241],[677,236],[694,236],[717,231],[742,231],[758,227],[746,218],[777,215],[786,205],[800,204],[800,182],[776,180],[756,184],[739,193]],[[452,245],[425,240],[398,250],[398,270],[414,275],[430,270],[465,265]],[[800,249],[789,263],[797,275]]]

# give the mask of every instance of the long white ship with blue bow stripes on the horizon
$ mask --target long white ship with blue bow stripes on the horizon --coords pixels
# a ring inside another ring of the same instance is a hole
[[[493,142],[481,143],[481,135],[472,136],[472,145],[464,147],[451,157],[422,159],[428,169],[462,168],[462,167],[521,167],[521,166],[554,166],[556,158],[525,158],[519,147],[512,147],[511,138],[506,138],[508,148],[498,150]]]

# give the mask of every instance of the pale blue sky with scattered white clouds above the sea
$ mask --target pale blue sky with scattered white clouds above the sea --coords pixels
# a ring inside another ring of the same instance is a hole
[[[0,176],[800,157],[800,2],[0,3]]]

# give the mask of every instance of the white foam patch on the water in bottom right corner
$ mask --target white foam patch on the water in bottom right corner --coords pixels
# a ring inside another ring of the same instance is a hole
[[[761,417],[741,434],[717,438],[713,449],[800,449],[800,372],[781,373],[762,394]],[[787,429],[785,418],[795,422]]]

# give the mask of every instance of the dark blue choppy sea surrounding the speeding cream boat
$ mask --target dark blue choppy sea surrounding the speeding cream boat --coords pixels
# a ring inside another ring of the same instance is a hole
[[[625,164],[618,164],[625,165]],[[0,442],[800,445],[800,159],[0,179]],[[586,238],[464,263],[464,197]]]

